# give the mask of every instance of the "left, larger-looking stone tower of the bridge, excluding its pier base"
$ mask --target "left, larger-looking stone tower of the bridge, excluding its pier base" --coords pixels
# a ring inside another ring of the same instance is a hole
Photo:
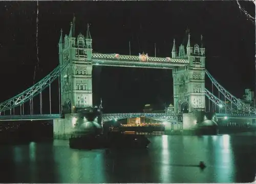
[[[92,93],[92,38],[87,28],[86,37],[75,37],[75,17],[69,36],[59,39],[59,63],[69,62],[60,76],[62,113],[76,113],[78,109],[93,106]]]

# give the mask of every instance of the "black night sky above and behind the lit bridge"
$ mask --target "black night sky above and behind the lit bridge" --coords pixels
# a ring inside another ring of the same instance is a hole
[[[255,17],[252,2],[240,5]],[[33,85],[35,66],[37,82],[58,65],[60,29],[69,33],[73,13],[76,34],[85,35],[90,23],[93,50],[101,53],[129,55],[131,41],[132,55],[145,51],[154,56],[156,43],[157,56],[170,57],[173,39],[180,44],[189,28],[192,43],[203,35],[206,68],[221,85],[237,97],[255,88],[255,21],[236,1],[40,1],[38,7],[39,63],[37,2],[0,2],[1,102]],[[56,84],[52,93],[56,109]],[[105,112],[141,111],[145,103],[162,106],[173,101],[172,70],[95,67],[93,93],[96,103],[102,97]],[[43,98],[48,100],[48,94]]]

